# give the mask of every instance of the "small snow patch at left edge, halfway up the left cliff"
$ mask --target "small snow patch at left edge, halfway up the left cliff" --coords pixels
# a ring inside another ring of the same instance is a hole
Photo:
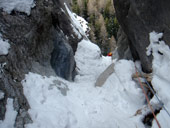
[[[0,34],[0,55],[7,55],[10,44],[7,40],[3,40]]]

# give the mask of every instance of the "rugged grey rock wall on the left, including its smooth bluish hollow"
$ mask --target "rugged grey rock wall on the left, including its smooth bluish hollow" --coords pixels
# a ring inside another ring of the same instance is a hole
[[[11,45],[8,55],[0,56],[0,63],[6,63],[0,74],[0,91],[5,94],[0,99],[0,120],[5,116],[7,98],[13,98],[18,112],[15,127],[23,128],[31,122],[21,85],[24,74],[57,74],[72,80],[76,73],[74,52],[80,39],[73,32],[62,0],[36,0],[29,16],[0,10],[0,33]]]

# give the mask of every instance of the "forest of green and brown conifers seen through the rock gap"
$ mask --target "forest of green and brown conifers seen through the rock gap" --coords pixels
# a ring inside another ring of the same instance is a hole
[[[99,45],[102,53],[107,54],[113,50],[111,42],[117,37],[119,29],[113,0],[73,0],[73,3],[76,13],[89,22],[89,38]]]

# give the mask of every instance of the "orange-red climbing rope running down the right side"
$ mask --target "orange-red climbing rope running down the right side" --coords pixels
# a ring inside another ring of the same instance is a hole
[[[143,84],[142,84],[142,82],[141,82],[141,80],[140,80],[140,78],[139,78],[139,75],[138,75],[138,71],[137,71],[136,66],[135,66],[135,70],[136,70],[136,76],[137,76],[137,78],[138,78],[139,84],[140,84],[140,86],[141,86],[141,88],[142,88],[142,90],[143,90],[143,93],[144,93],[145,97],[146,97],[148,106],[149,106],[149,108],[151,109],[151,112],[152,112],[152,114],[153,114],[153,117],[154,117],[154,119],[155,119],[158,127],[161,128],[161,126],[160,126],[160,124],[159,124],[159,122],[158,122],[158,120],[157,120],[157,118],[156,118],[156,115],[155,115],[155,113],[154,113],[154,110],[153,110],[153,108],[152,108],[152,106],[151,106],[151,104],[150,104],[149,98],[148,98],[148,96],[147,96],[147,94],[146,94],[146,92],[145,92],[145,89],[144,89],[144,87],[143,87]]]

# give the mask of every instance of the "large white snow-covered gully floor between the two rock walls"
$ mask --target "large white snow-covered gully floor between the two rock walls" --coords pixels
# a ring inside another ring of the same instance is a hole
[[[75,82],[26,75],[22,84],[33,119],[26,128],[144,128],[142,115],[135,116],[144,96],[131,78],[134,63],[115,61],[115,73],[103,87],[94,87],[96,78],[112,63],[111,57],[101,56],[98,46],[82,40],[75,59],[79,69]]]

